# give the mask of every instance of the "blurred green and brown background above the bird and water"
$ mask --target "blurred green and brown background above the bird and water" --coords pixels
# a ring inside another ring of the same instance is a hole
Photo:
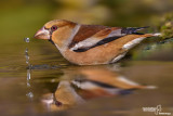
[[[172,0],[1,0],[0,15],[0,53],[15,53],[24,37],[32,38],[44,23],[56,18],[107,26],[151,26],[148,31],[173,36]]]

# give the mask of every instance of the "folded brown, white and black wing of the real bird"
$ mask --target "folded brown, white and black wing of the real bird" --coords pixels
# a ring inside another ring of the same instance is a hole
[[[89,49],[111,42],[127,35],[141,35],[137,30],[146,27],[106,27],[94,25],[82,25],[69,44],[69,49],[75,52],[84,52]]]

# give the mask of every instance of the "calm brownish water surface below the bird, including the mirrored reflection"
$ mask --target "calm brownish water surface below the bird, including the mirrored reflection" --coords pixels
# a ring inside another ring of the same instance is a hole
[[[172,61],[76,66],[48,41],[25,40],[1,52],[1,116],[152,116],[143,107],[157,105],[173,113]]]

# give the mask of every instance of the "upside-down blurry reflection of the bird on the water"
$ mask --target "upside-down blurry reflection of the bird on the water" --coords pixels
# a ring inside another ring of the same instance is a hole
[[[42,102],[49,111],[62,111],[97,98],[130,94],[136,89],[151,89],[120,75],[117,67],[72,66],[64,70],[54,93],[44,94]]]

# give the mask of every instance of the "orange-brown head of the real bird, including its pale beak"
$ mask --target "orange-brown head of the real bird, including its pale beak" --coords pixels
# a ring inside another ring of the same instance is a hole
[[[61,48],[67,42],[66,40],[72,34],[76,25],[76,23],[65,20],[50,21],[35,34],[35,38],[51,40]]]

